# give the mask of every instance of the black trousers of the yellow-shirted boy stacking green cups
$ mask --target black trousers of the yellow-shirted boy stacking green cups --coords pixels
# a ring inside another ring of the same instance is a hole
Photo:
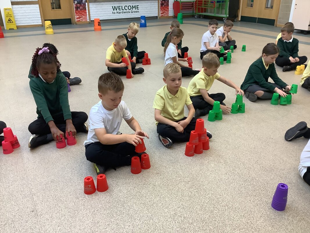
[[[219,103],[221,105],[225,105],[223,103],[223,101],[225,99],[225,95],[223,93],[216,93],[216,94],[209,94],[208,93],[208,95],[214,101],[219,101]],[[193,106],[194,106],[195,109],[203,110],[202,111],[202,116],[207,115],[210,112],[210,110],[213,109],[213,105],[211,105],[210,103],[206,102],[202,95],[191,96],[190,98],[191,98],[191,100],[193,102]]]

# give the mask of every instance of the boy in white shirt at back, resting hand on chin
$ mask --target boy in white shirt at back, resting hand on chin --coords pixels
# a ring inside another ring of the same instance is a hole
[[[219,36],[219,46],[223,46],[225,50],[230,49],[230,46],[233,46],[233,49],[237,48],[236,41],[232,39],[229,32],[232,30],[233,22],[231,20],[226,20],[224,26],[220,27],[216,34]]]

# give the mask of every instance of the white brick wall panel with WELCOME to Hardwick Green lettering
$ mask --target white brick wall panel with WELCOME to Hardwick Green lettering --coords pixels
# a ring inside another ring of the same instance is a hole
[[[127,10],[129,13],[117,13],[125,10],[113,10],[113,7],[124,7],[125,6],[139,6],[139,10]],[[91,20],[99,18],[100,20],[105,19],[118,19],[118,18],[135,18],[141,15],[145,16],[158,16],[158,3],[157,1],[126,1],[126,2],[90,2],[89,10],[91,13]],[[131,13],[131,11],[139,11]],[[114,14],[115,13],[115,14]]]

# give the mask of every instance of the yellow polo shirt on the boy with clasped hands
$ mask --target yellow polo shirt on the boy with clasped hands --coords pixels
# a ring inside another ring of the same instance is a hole
[[[179,121],[184,118],[184,106],[192,104],[185,87],[180,87],[177,94],[172,95],[163,86],[156,92],[153,108],[161,110],[162,116],[170,121]],[[156,125],[158,121],[156,121]]]

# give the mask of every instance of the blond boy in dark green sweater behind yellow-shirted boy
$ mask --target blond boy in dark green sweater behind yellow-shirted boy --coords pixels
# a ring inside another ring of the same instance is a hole
[[[132,62],[142,63],[142,59],[144,58],[145,51],[138,52],[138,40],[136,35],[139,32],[139,25],[137,23],[130,23],[128,27],[128,32],[123,34],[126,38],[127,46],[125,51],[127,56],[131,56]]]

